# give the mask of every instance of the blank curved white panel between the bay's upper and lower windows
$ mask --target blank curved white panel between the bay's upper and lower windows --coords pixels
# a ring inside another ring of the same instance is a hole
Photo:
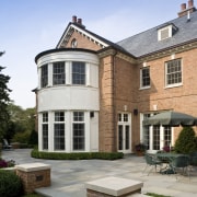
[[[38,112],[55,109],[99,111],[99,89],[47,88],[38,92]]]

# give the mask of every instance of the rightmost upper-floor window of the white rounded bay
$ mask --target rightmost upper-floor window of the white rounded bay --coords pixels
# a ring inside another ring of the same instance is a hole
[[[72,62],[72,84],[85,84],[84,62]]]

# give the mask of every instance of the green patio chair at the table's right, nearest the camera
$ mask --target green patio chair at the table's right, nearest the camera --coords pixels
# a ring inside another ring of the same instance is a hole
[[[176,175],[176,179],[179,171],[182,175],[187,175],[190,178],[188,166],[189,166],[188,155],[179,155],[177,158],[172,159],[172,161],[170,162],[170,167]]]

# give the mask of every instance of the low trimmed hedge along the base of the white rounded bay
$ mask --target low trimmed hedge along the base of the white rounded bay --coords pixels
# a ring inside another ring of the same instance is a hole
[[[59,153],[59,152],[43,152],[37,149],[32,150],[32,158],[46,160],[117,160],[124,157],[123,152],[74,152],[74,153]]]

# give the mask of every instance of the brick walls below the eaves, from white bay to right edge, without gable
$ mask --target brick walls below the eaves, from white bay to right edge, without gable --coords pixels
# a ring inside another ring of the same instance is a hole
[[[174,59],[182,58],[183,85],[171,89],[165,88],[164,63],[172,60],[172,56],[147,62],[151,74],[151,89],[148,90],[140,90],[142,63],[136,65],[113,56],[101,59],[100,151],[117,150],[117,114],[124,111],[124,105],[132,114],[132,144],[139,142],[140,138],[140,116],[134,115],[134,108],[146,113],[153,112],[153,105],[157,105],[158,111],[174,109],[197,116],[196,54],[197,49],[193,49],[174,55]],[[175,128],[175,139],[179,130]]]

